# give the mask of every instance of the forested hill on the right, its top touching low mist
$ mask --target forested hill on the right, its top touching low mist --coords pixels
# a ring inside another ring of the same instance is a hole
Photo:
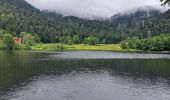
[[[132,14],[117,14],[112,17],[112,25],[116,32],[124,36],[147,38],[170,33],[169,11],[160,13],[157,10],[138,11]]]

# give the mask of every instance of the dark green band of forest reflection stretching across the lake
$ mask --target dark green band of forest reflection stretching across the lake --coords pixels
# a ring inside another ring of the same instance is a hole
[[[38,75],[69,75],[107,71],[110,75],[132,78],[170,77],[169,60],[35,60],[41,53],[0,53],[0,87],[7,90],[13,85]]]

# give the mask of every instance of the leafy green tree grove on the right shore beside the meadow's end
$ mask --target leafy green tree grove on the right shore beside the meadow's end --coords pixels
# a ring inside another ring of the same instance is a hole
[[[170,35],[160,35],[146,39],[132,37],[122,41],[121,47],[143,51],[170,51]]]

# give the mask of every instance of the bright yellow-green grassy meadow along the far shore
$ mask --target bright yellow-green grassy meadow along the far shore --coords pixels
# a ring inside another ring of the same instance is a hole
[[[58,50],[90,50],[90,51],[136,51],[133,49],[122,49],[119,44],[99,44],[96,46],[76,44],[36,44],[32,46],[35,51],[58,51]]]

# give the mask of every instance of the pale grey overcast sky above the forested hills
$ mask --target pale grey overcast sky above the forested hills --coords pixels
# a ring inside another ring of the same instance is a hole
[[[26,0],[40,10],[55,11],[59,14],[90,18],[110,17],[118,12],[152,5],[160,7],[160,0]]]

